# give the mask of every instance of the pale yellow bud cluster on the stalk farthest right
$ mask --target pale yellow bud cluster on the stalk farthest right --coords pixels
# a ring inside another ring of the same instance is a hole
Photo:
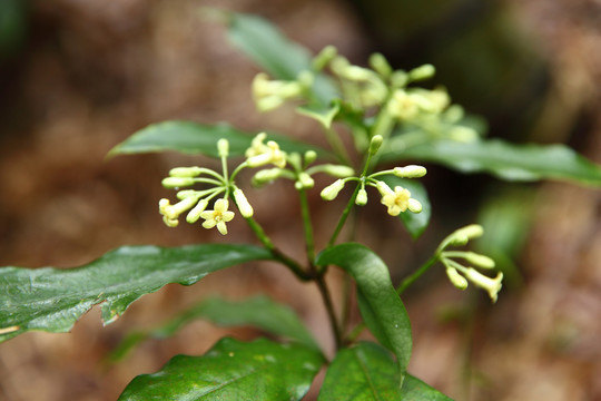
[[[465,290],[469,282],[485,290],[492,302],[496,302],[497,294],[502,287],[503,273],[499,272],[495,277],[482,274],[479,270],[492,271],[495,263],[489,256],[471,251],[446,251],[449,246],[463,246],[471,239],[484,234],[482,226],[472,224],[460,228],[449,235],[441,243],[437,250],[440,260],[445,266],[446,275],[453,285],[460,290]],[[463,264],[457,262],[461,260]]]

